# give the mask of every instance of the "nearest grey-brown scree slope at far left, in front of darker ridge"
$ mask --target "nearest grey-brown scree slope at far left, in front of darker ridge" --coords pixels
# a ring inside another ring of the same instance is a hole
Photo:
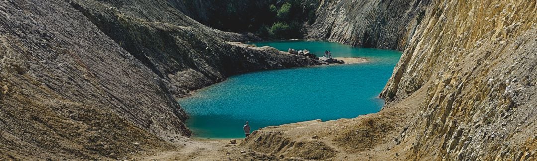
[[[126,155],[190,133],[164,82],[69,4],[0,6],[0,158]]]

